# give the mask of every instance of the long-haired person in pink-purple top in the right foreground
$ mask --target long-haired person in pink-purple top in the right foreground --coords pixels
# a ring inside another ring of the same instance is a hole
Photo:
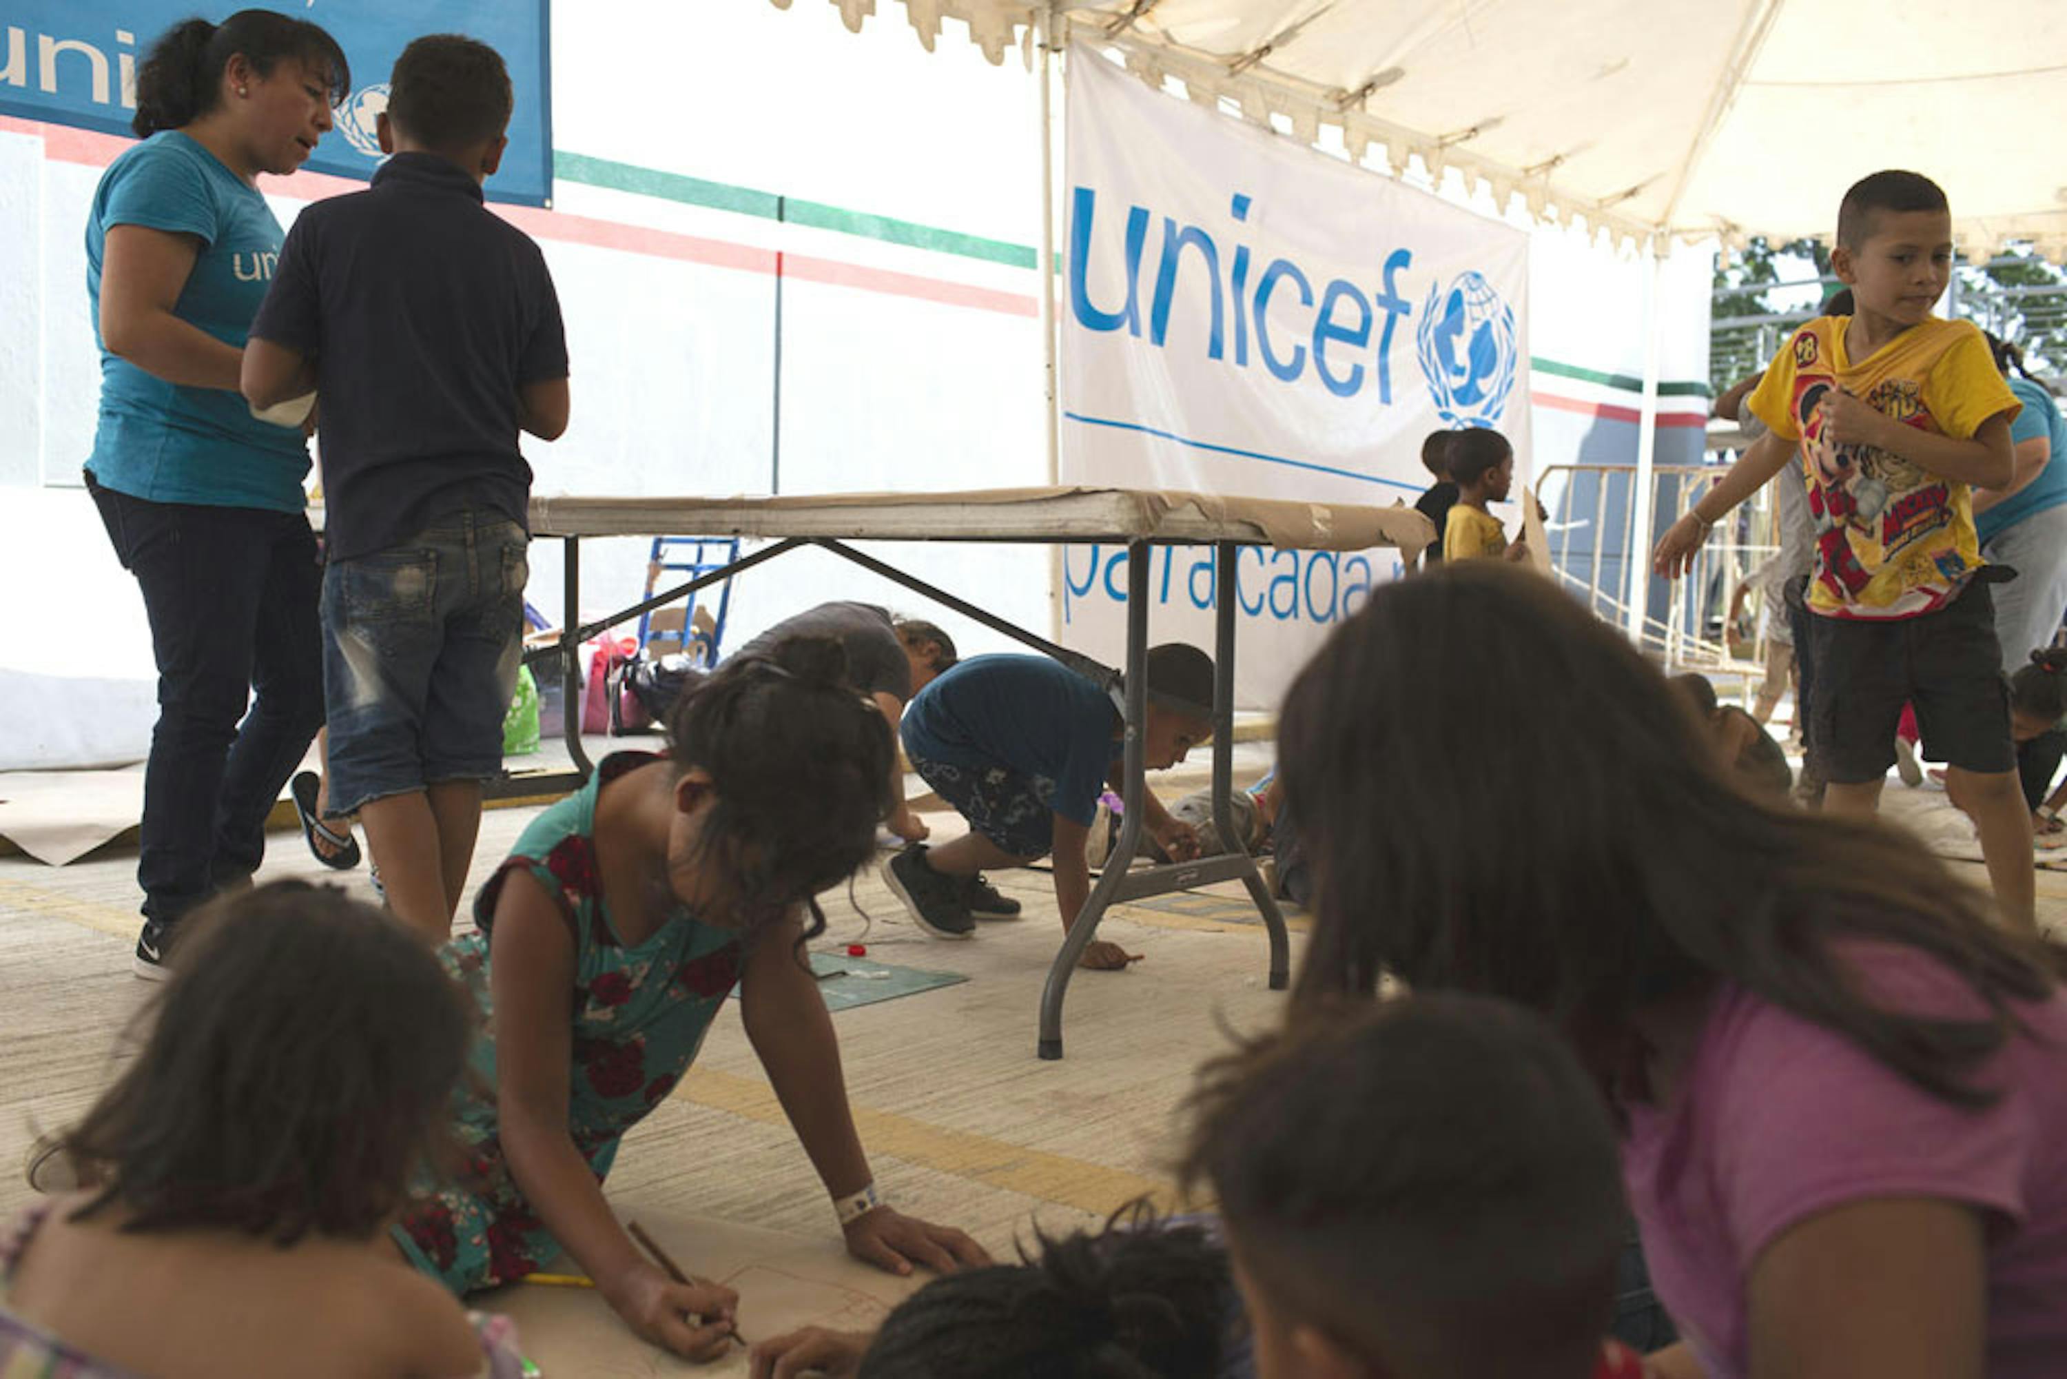
[[[1726,784],[1633,647],[1490,562],[1375,593],[1282,769],[1319,872],[1298,1003],[1391,974],[1565,1032],[1689,1338],[1662,1375],[2067,1373],[2059,949],[1871,819]]]

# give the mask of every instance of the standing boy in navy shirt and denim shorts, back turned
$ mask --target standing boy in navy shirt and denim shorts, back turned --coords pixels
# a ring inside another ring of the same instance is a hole
[[[391,87],[395,157],[296,219],[244,395],[318,393],[331,808],[358,810],[397,918],[442,941],[523,649],[517,430],[566,430],[566,335],[537,244],[482,201],[513,105],[502,58],[422,37]]]

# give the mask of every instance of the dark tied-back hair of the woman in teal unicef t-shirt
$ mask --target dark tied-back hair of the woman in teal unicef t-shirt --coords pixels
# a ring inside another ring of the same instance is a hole
[[[223,99],[223,68],[244,54],[260,76],[273,66],[302,62],[331,87],[331,105],[351,91],[351,64],[320,25],[273,10],[238,10],[219,25],[182,19],[151,43],[136,68],[136,139],[176,130],[215,110]]]

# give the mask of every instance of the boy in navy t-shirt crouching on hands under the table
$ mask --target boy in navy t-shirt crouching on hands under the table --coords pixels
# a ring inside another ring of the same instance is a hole
[[[1147,655],[1149,771],[1166,771],[1213,736],[1213,657],[1164,643]],[[1000,866],[1054,856],[1054,899],[1067,932],[1091,895],[1085,844],[1098,794],[1120,788],[1120,711],[1102,686],[1046,655],[978,655],[928,684],[903,717],[912,769],[969,821],[969,831],[928,850],[914,844],[885,866],[912,920],[934,939],[976,930],[969,881]],[[1168,856],[1199,856],[1199,835],[1143,792],[1141,825]],[[1098,970],[1139,961],[1104,939],[1083,951]]]

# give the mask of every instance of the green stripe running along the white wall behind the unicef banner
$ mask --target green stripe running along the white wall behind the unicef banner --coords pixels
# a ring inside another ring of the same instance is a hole
[[[959,229],[901,221],[891,215],[847,211],[845,207],[829,207],[819,201],[785,201],[775,192],[757,192],[748,186],[732,186],[728,182],[707,182],[678,172],[639,167],[637,163],[616,163],[608,157],[589,157],[587,153],[556,151],[552,155],[552,174],[566,182],[581,182],[583,186],[601,186],[614,192],[633,192],[635,196],[653,196],[657,201],[674,201],[686,207],[705,207],[711,211],[734,211],[738,215],[752,215],[769,221],[783,219],[792,225],[852,234],[883,244],[901,244],[905,248],[924,248],[936,254],[957,254],[961,258],[1002,263],[1009,269],[1034,269],[1040,263],[1040,252],[1031,244],[986,240],[984,236],[961,234]],[[1060,254],[1056,256],[1056,265],[1060,267]],[[1598,368],[1579,368],[1577,364],[1561,364],[1544,358],[1530,358],[1530,366],[1544,374],[1577,378],[1581,382],[1594,382],[1623,393],[1643,391],[1643,380],[1631,374],[1610,374]],[[1709,397],[1711,389],[1707,382],[1660,382],[1658,395]]]

